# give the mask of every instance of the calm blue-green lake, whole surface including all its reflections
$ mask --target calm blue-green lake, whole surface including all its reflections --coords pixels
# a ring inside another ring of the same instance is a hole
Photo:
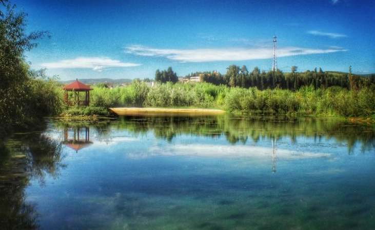
[[[0,229],[375,228],[369,126],[231,116],[50,120],[44,131],[14,135],[3,152]]]

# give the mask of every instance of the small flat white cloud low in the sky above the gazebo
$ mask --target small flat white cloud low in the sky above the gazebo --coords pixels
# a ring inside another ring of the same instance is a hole
[[[110,67],[134,67],[141,66],[141,64],[121,62],[113,60],[109,57],[77,57],[74,59],[66,59],[55,62],[45,62],[41,64],[47,69],[92,69],[101,71]]]

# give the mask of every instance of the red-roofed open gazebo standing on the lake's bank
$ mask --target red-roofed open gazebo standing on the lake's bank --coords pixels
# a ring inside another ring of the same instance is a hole
[[[65,103],[69,105],[77,104],[78,106],[89,106],[90,104],[90,90],[91,87],[85,85],[84,83],[76,81],[70,83],[66,87],[63,88],[65,90]],[[68,91],[72,91],[74,94],[74,99],[69,100],[68,98]],[[80,92],[86,92],[85,100],[80,100]]]

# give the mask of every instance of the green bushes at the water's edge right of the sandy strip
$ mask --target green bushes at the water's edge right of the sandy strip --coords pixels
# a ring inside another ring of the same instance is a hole
[[[373,88],[363,88],[356,92],[341,87],[314,90],[310,86],[302,87],[295,93],[280,89],[260,91],[256,88],[232,88],[226,96],[225,108],[229,111],[368,117],[375,113],[374,100]]]

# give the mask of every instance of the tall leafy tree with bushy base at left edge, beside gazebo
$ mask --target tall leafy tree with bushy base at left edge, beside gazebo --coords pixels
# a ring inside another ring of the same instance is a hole
[[[0,2],[4,5],[6,1]],[[48,32],[26,34],[26,13],[8,5],[0,17],[0,135],[25,126],[32,118],[58,113],[61,101],[56,83],[42,71],[30,71],[25,51],[36,47]]]

